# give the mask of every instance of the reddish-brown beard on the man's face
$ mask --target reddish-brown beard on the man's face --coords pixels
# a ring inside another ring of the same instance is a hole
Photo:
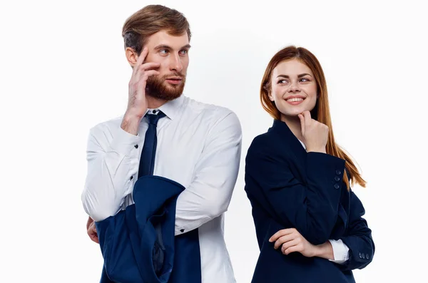
[[[166,78],[180,77],[181,83],[173,85],[165,81]],[[153,98],[158,98],[163,101],[172,101],[178,98],[183,93],[185,85],[185,76],[181,73],[173,73],[165,76],[150,76],[146,83],[146,94]]]

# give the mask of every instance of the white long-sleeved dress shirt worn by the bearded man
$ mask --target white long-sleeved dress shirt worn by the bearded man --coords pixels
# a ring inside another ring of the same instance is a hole
[[[228,210],[238,177],[240,121],[227,108],[183,95],[157,109],[166,116],[158,121],[153,175],[185,187],[177,200],[175,235],[199,228],[202,282],[234,283],[223,237],[223,213]],[[148,122],[141,120],[138,135],[123,130],[121,122],[121,117],[108,120],[89,133],[82,201],[95,221],[133,204]]]

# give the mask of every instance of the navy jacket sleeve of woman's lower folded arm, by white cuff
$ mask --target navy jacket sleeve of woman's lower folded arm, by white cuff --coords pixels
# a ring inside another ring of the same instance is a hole
[[[372,230],[362,218],[365,209],[354,192],[350,192],[350,216],[347,232],[340,239],[349,247],[350,258],[342,264],[343,269],[362,269],[370,264],[374,255]]]

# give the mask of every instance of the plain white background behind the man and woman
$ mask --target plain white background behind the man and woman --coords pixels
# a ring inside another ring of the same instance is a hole
[[[362,169],[373,230],[357,282],[422,282],[427,245],[427,63],[423,1],[9,1],[0,5],[1,282],[98,282],[102,257],[81,205],[86,139],[121,115],[131,68],[121,28],[147,4],[190,22],[185,94],[226,106],[243,156],[272,119],[259,103],[267,62],[289,44],[320,60],[337,142]],[[425,10],[426,11],[426,10]],[[225,218],[238,283],[258,258],[243,166]],[[287,282],[284,270],[284,282]]]

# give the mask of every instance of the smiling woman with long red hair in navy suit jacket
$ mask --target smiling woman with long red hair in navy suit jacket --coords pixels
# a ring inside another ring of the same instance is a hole
[[[274,118],[248,149],[245,191],[260,247],[253,283],[355,282],[374,242],[355,164],[335,143],[325,76],[305,48],[288,46],[267,65],[260,88]]]

